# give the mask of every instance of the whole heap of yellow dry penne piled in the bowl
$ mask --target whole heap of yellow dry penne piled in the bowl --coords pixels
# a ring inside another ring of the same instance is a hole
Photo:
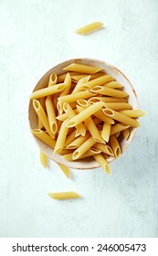
[[[67,161],[93,157],[111,174],[109,158],[121,155],[121,140],[144,112],[133,110],[123,85],[99,67],[72,63],[64,70],[32,92],[38,126],[31,132]]]

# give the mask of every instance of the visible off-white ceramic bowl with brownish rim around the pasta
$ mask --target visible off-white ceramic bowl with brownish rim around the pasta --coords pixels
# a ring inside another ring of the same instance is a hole
[[[71,64],[73,62],[76,62],[79,64],[87,64],[87,65],[91,65],[91,66],[97,66],[97,67],[102,68],[107,74],[111,75],[115,80],[117,80],[124,86],[124,91],[128,92],[130,95],[129,103],[132,104],[133,109],[139,108],[137,96],[132,87],[131,82],[123,75],[123,73],[119,69],[111,66],[110,64],[108,64],[106,62],[102,62],[102,61],[96,60],[96,59],[69,59],[65,62],[58,64],[56,67],[47,71],[47,73],[37,82],[37,85],[33,91],[37,91],[39,89],[47,87],[49,76],[52,72],[56,72],[57,75],[65,73],[63,68],[65,68],[66,66],[68,66],[69,64]],[[29,101],[28,118],[29,118],[30,128],[36,129],[37,128],[37,114],[34,111],[32,101]],[[122,139],[122,141],[121,141],[122,152],[124,152],[127,149],[128,145],[131,144],[135,132],[136,132],[136,128],[132,128],[132,132],[130,134],[129,139],[128,140]],[[37,139],[35,136],[34,136],[34,138],[37,142],[37,145],[44,152],[44,154],[47,155],[47,157],[49,157],[50,159],[52,159],[53,161],[57,162],[60,165],[65,165],[65,166],[68,166],[69,168],[74,168],[74,169],[92,169],[92,168],[99,167],[99,164],[92,157],[89,157],[86,160],[81,159],[81,160],[74,161],[74,162],[68,162],[65,159],[63,159],[63,157],[61,155],[55,155],[53,153],[53,150],[49,146],[47,146],[47,144],[44,144],[39,139]],[[110,157],[108,159],[108,162],[111,162],[114,159],[115,159],[115,157]]]

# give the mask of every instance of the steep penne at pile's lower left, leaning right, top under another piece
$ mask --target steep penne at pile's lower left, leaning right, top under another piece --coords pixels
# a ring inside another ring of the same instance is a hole
[[[68,134],[68,127],[66,126],[67,120],[65,120],[63,123],[61,123],[61,127],[58,133],[57,142],[54,148],[54,153],[58,154],[63,149],[66,141],[66,137]]]

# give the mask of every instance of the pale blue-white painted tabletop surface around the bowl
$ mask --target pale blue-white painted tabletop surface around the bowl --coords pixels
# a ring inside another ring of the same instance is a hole
[[[158,236],[158,2],[125,0],[0,1],[0,237]],[[93,21],[105,28],[81,37]],[[101,169],[45,170],[29,133],[28,96],[59,62],[87,57],[121,69],[146,112],[135,140]],[[78,200],[47,192],[75,190]]]

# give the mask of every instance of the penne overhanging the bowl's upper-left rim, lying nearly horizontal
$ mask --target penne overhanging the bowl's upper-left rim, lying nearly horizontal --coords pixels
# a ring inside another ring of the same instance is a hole
[[[48,95],[58,93],[59,91],[64,90],[64,88],[66,86],[67,85],[65,83],[58,83],[54,86],[49,86],[47,88],[43,88],[43,89],[40,89],[40,90],[37,90],[37,91],[33,91],[31,96],[30,96],[30,100],[39,99],[41,97],[45,97],[45,96],[48,96]]]

